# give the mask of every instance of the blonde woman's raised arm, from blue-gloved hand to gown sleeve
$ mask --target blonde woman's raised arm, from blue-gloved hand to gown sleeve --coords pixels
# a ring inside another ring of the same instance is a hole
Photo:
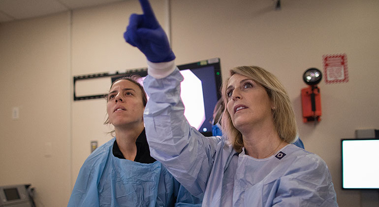
[[[180,98],[183,76],[176,68],[167,36],[148,0],[139,0],[143,14],[132,14],[124,34],[148,60],[144,88],[150,99],[144,122],[151,155],[194,196],[205,192],[220,138],[206,138],[184,116]]]

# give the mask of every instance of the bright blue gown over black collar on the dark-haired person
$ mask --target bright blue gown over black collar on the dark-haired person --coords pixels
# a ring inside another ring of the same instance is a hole
[[[143,164],[115,157],[114,141],[97,148],[84,162],[67,207],[201,206],[201,200],[158,161]]]

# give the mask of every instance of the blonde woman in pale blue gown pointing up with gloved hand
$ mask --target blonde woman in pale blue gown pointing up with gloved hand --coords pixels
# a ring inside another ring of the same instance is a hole
[[[283,85],[265,69],[230,70],[222,87],[225,137],[204,137],[184,116],[183,76],[147,0],[133,14],[124,37],[147,57],[144,112],[154,158],[204,207],[336,207],[325,162],[292,143],[293,109]]]

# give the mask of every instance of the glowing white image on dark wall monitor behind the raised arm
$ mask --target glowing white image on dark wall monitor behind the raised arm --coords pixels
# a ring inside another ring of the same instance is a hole
[[[184,116],[192,127],[199,130],[205,121],[203,87],[201,85],[201,80],[189,69],[180,70],[180,73],[184,77],[184,80],[180,85],[180,97],[182,98],[185,107]],[[142,77],[140,84],[143,85],[143,80],[145,78],[146,77]]]

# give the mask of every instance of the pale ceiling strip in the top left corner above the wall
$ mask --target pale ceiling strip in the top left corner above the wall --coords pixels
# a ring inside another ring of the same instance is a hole
[[[0,23],[122,0],[0,0]]]

